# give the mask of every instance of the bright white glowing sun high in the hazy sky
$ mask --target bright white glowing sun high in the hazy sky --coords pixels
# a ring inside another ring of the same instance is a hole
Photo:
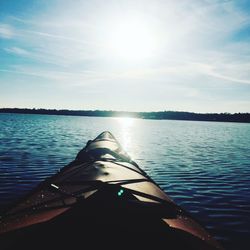
[[[105,38],[110,55],[125,61],[150,58],[156,47],[155,34],[146,20],[114,20]]]

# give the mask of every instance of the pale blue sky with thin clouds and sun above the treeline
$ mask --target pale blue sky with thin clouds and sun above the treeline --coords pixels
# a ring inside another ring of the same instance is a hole
[[[0,107],[250,112],[250,1],[0,0]]]

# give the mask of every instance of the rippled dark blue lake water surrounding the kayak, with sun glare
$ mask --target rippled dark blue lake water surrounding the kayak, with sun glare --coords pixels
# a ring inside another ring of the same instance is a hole
[[[105,130],[226,249],[249,249],[250,124],[0,114],[0,211]]]

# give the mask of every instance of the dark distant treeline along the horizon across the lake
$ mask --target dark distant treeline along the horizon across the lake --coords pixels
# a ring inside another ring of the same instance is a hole
[[[158,120],[189,120],[189,121],[218,121],[218,122],[248,122],[250,113],[192,113],[179,111],[159,112],[125,112],[106,110],[57,110],[57,109],[20,109],[2,108],[0,113],[40,114],[40,115],[71,115],[71,116],[96,116],[96,117],[134,117]]]

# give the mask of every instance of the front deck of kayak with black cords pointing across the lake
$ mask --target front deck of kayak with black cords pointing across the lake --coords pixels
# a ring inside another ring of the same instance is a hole
[[[222,249],[103,132],[0,217],[1,249]]]

